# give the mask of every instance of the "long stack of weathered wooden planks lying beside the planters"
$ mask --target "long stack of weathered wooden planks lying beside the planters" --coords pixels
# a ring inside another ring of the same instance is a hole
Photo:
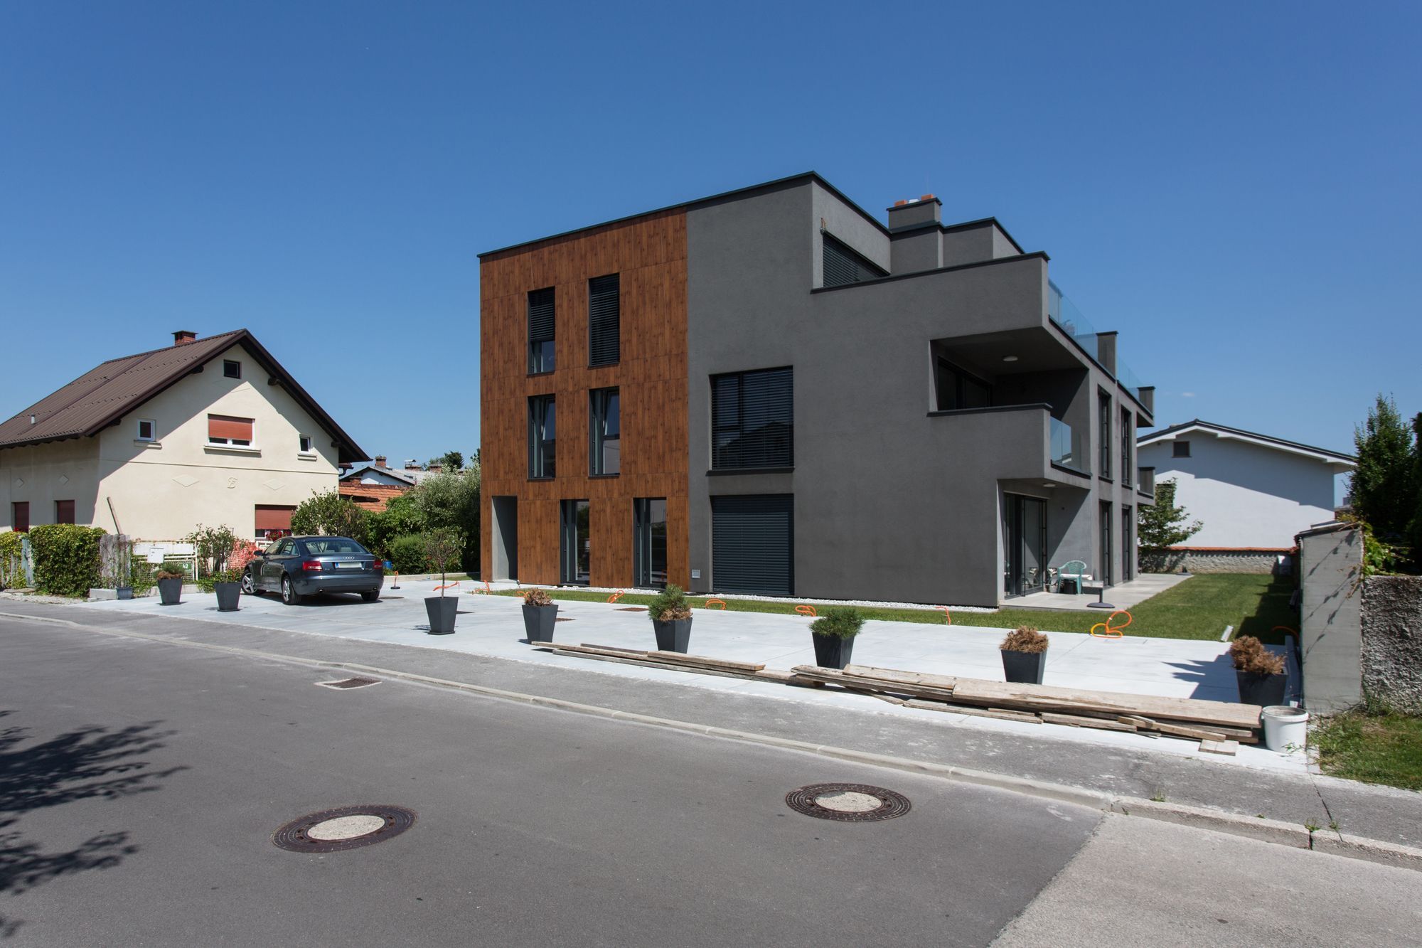
[[[862,665],[850,665],[842,672],[819,665],[796,665],[792,672],[792,685],[838,685],[852,692],[899,699],[910,707],[1152,737],[1166,734],[1221,744],[1258,743],[1260,709],[1254,705],[990,682]]]

